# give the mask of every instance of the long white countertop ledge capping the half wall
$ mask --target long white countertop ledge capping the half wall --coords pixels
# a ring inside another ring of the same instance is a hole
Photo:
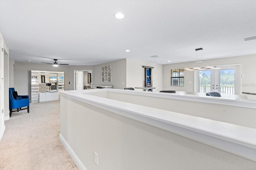
[[[185,96],[185,100],[190,99],[193,102],[196,102],[193,100],[195,98],[203,98],[206,103],[212,103],[211,100],[214,100],[214,104],[220,101],[225,101],[225,104],[228,106],[231,106],[230,103],[238,101],[246,103],[246,105],[255,105],[256,102],[253,100],[204,98],[193,95],[166,95],[164,93],[136,92],[134,90],[119,89],[60,91],[60,94],[67,98],[79,100],[130,119],[256,161],[256,129],[90,95],[90,93],[93,92],[116,92],[172,98],[176,100],[182,100],[182,97]],[[199,100],[203,102],[202,99]],[[235,105],[237,106],[237,104]]]

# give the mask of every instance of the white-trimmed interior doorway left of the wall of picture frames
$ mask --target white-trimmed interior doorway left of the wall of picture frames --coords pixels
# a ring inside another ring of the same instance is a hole
[[[92,87],[92,70],[74,70],[74,90]]]

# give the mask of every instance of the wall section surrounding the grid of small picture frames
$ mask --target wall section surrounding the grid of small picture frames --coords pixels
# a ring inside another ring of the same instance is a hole
[[[101,66],[109,64],[112,64],[112,82],[102,82]],[[93,85],[112,85],[112,88],[124,89],[126,87],[126,59],[96,65],[92,74]]]

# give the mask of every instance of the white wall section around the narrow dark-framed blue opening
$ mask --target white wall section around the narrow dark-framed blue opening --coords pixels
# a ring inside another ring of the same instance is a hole
[[[153,89],[153,92],[162,90],[162,65],[134,59],[126,59],[126,87],[134,88],[144,86],[144,68],[142,66],[154,67],[152,69],[152,82],[153,86],[159,88]]]

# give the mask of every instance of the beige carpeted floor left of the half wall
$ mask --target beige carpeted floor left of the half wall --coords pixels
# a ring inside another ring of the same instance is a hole
[[[59,140],[60,101],[12,113],[0,141],[0,170],[78,170]]]

